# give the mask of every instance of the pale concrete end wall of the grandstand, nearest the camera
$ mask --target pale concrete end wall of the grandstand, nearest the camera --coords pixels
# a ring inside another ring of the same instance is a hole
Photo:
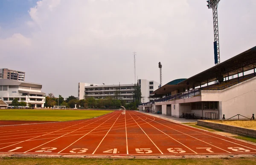
[[[202,101],[220,101],[220,119],[237,114],[251,118],[256,114],[256,77],[222,91],[202,91]]]

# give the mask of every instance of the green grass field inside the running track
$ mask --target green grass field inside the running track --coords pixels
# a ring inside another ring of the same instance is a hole
[[[111,110],[0,109],[0,120],[67,121],[88,119]]]

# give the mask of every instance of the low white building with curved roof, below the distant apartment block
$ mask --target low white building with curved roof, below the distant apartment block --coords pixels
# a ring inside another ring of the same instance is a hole
[[[12,101],[30,103],[32,107],[43,108],[45,103],[45,93],[41,92],[42,85],[16,80],[0,78],[0,98],[12,105]]]

